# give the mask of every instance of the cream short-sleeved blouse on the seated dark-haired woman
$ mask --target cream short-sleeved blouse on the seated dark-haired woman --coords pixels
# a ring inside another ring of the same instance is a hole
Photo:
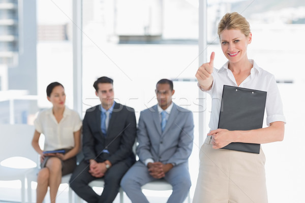
[[[74,132],[81,128],[82,121],[77,112],[65,107],[64,116],[58,123],[51,108],[40,112],[34,125],[38,132],[44,134],[44,151],[47,151],[73,148]]]

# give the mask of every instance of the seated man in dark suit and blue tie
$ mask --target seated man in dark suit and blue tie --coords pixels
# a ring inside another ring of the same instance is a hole
[[[86,111],[83,120],[84,159],[76,167],[70,186],[87,202],[113,202],[119,183],[135,162],[132,147],[136,137],[134,109],[114,101],[113,80],[101,77],[94,83],[101,105]],[[102,195],[88,183],[104,178]]]

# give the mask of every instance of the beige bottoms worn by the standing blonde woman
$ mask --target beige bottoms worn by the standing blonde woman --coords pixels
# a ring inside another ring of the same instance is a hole
[[[208,136],[200,149],[193,203],[267,203],[265,155],[213,149]]]

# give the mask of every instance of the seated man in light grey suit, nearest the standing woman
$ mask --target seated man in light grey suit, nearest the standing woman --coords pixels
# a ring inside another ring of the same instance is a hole
[[[172,102],[173,82],[157,83],[158,105],[141,112],[138,126],[137,161],[121,180],[121,187],[133,203],[148,202],[141,186],[165,179],[173,187],[167,202],[183,202],[191,180],[188,158],[193,147],[193,114]]]

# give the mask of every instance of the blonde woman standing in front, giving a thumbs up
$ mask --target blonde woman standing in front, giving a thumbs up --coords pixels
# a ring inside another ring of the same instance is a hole
[[[196,73],[198,86],[212,97],[210,132],[200,150],[200,168],[193,202],[268,202],[265,181],[265,155],[220,149],[232,142],[271,143],[284,139],[285,117],[275,77],[248,59],[252,33],[240,14],[227,13],[218,25],[221,48],[228,59],[215,69],[210,61]],[[255,130],[217,129],[223,85],[267,91],[267,127]]]

